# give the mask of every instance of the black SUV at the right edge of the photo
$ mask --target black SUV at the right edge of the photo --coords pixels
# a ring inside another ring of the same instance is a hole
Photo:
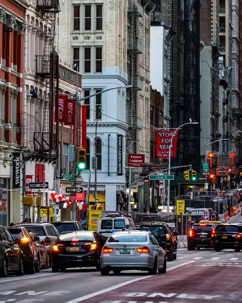
[[[239,252],[242,248],[242,224],[219,224],[212,234],[212,247],[216,251],[233,248]]]

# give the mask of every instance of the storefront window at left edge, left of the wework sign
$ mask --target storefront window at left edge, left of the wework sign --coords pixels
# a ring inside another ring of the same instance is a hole
[[[0,178],[0,225],[9,224],[9,179]]]

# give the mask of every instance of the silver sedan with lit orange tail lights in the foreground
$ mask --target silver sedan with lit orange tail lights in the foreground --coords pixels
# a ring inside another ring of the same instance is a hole
[[[165,273],[166,252],[149,231],[114,232],[101,252],[101,274],[108,275],[111,270],[114,274],[123,270]]]

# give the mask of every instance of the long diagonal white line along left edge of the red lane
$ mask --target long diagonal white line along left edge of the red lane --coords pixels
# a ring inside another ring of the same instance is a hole
[[[178,268],[178,267],[187,265],[187,264],[191,264],[191,263],[194,263],[194,262],[196,262],[196,261],[189,261],[189,262],[186,262],[186,263],[182,263],[182,264],[180,264],[180,265],[174,266],[174,268],[169,268],[168,270],[172,270],[172,269],[175,269],[175,268]],[[168,271],[168,270],[167,270],[167,271]],[[120,283],[120,284],[118,284],[118,285],[114,285],[114,286],[111,286],[111,287],[109,287],[109,288],[106,288],[106,289],[103,289],[103,290],[100,290],[100,291],[96,291],[96,292],[93,292],[93,293],[84,295],[84,296],[82,296],[82,297],[73,299],[73,300],[68,301],[68,302],[66,302],[66,303],[78,303],[78,302],[84,301],[84,300],[86,300],[86,299],[92,298],[92,297],[94,297],[94,296],[97,296],[97,295],[99,295],[99,294],[103,294],[103,293],[105,293],[105,292],[109,292],[109,291],[115,290],[115,289],[117,289],[117,288],[123,287],[123,286],[125,286],[125,285],[130,284],[130,283],[134,283],[134,282],[137,282],[137,281],[140,281],[140,280],[144,280],[144,279],[148,279],[148,278],[151,278],[151,277],[154,277],[154,276],[145,276],[145,277],[140,277],[140,278],[133,279],[133,280],[130,280],[130,281],[126,281],[126,282]]]

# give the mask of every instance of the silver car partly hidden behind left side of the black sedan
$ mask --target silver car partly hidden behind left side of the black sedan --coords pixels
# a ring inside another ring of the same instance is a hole
[[[18,226],[24,226],[28,232],[34,233],[39,237],[41,243],[46,247],[48,251],[49,262],[52,264],[52,245],[60,235],[59,231],[51,223],[22,223]]]

